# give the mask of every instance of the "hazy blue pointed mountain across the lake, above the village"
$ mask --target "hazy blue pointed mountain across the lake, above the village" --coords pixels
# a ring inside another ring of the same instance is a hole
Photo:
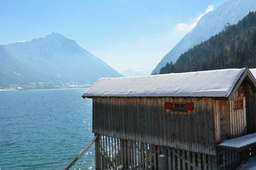
[[[100,77],[123,77],[76,41],[58,33],[0,45],[0,59],[0,87],[57,80],[88,83]]]

